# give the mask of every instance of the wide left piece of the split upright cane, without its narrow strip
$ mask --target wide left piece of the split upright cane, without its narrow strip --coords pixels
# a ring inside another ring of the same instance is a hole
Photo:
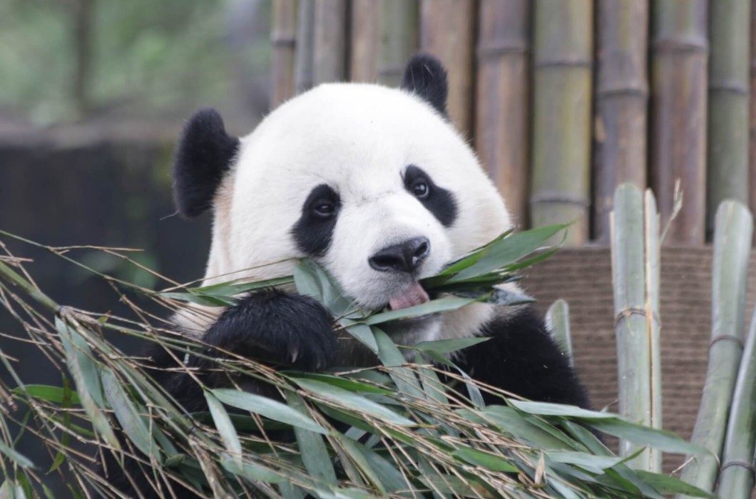
[[[633,184],[617,188],[611,214],[612,283],[619,412],[632,423],[650,426],[652,411],[652,354],[649,334],[649,303],[646,299],[646,244],[643,230],[643,196]],[[655,318],[650,318],[653,321]],[[620,455],[630,456],[640,446],[620,441]],[[650,470],[649,449],[630,461],[630,466]]]

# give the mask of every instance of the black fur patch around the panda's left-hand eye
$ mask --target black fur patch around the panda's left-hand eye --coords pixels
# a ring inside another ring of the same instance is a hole
[[[321,203],[331,203],[333,214],[324,217],[317,212]],[[339,194],[327,184],[314,188],[302,205],[302,216],[294,225],[292,234],[299,250],[310,256],[323,256],[330,246],[336,219],[339,216]]]

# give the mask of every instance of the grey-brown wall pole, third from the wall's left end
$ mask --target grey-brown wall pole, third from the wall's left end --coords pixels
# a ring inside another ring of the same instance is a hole
[[[314,84],[346,78],[348,4],[346,0],[311,0],[315,4]]]

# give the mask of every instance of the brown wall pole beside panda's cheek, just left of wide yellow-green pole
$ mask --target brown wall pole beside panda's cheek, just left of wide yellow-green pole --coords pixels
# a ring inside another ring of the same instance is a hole
[[[530,0],[479,7],[476,148],[507,208],[528,223]]]

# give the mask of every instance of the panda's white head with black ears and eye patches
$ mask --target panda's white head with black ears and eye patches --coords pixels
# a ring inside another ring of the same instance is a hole
[[[175,200],[187,217],[214,212],[206,284],[289,274],[308,256],[365,308],[426,300],[418,280],[510,228],[446,96],[444,68],[421,54],[401,88],[320,85],[241,139],[214,110],[195,113],[175,155]],[[415,321],[404,340],[475,333],[489,311],[467,308]]]

